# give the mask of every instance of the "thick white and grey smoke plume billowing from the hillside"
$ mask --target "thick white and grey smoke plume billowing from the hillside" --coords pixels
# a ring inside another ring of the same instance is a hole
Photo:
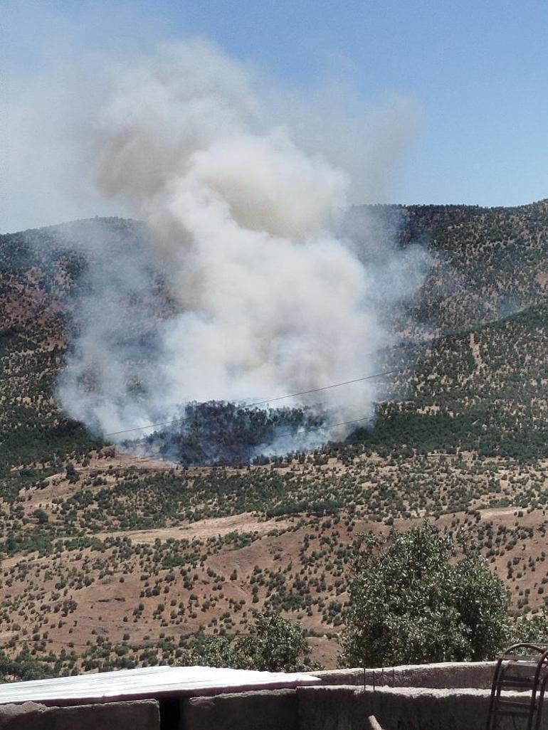
[[[176,418],[189,401],[251,402],[368,375],[393,342],[387,312],[416,291],[424,255],[367,225],[362,241],[340,232],[349,175],[297,144],[290,115],[271,126],[258,86],[199,41],[111,80],[89,159],[99,191],[148,233],[114,256],[94,245],[58,383],[64,410],[93,429]],[[372,415],[375,394],[365,381],[283,404],[335,423]]]

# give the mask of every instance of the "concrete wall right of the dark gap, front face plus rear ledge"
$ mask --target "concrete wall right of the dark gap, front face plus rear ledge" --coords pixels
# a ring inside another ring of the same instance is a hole
[[[322,685],[183,701],[180,730],[369,730],[370,715],[384,730],[485,730],[493,669],[493,662],[371,669],[365,687],[362,669],[317,672]],[[548,699],[544,714],[540,730],[548,730]],[[500,730],[515,730],[514,721]]]

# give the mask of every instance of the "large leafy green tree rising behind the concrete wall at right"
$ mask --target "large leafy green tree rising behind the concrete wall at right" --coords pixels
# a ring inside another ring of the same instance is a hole
[[[354,545],[343,666],[479,661],[511,639],[509,596],[480,556],[430,523]]]

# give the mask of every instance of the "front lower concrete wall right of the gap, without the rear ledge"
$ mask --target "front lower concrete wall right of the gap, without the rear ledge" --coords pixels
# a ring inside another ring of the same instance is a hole
[[[180,730],[370,730],[370,715],[384,730],[485,730],[489,701],[481,689],[300,687],[187,700]]]

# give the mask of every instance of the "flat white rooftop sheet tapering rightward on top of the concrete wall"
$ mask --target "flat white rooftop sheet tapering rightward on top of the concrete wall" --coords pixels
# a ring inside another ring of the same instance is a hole
[[[319,677],[300,673],[216,669],[210,666],[147,666],[115,672],[0,684],[0,704],[130,699],[167,695],[199,696],[254,689],[293,688],[321,684]]]

